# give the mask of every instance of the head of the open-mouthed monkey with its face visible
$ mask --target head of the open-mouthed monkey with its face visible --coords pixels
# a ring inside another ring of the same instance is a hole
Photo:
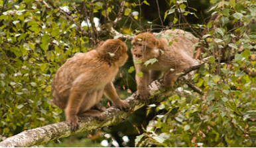
[[[162,49],[160,41],[149,32],[138,34],[131,44],[133,45],[131,53],[135,59],[140,59],[144,62],[158,57],[160,55],[160,49]]]

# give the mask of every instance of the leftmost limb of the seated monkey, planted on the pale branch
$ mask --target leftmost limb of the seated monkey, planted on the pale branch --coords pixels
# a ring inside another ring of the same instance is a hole
[[[81,91],[79,87],[72,87],[70,97],[68,98],[68,104],[65,109],[66,120],[72,126],[72,130],[76,131],[78,129],[78,110],[80,104],[86,96],[86,91]]]

